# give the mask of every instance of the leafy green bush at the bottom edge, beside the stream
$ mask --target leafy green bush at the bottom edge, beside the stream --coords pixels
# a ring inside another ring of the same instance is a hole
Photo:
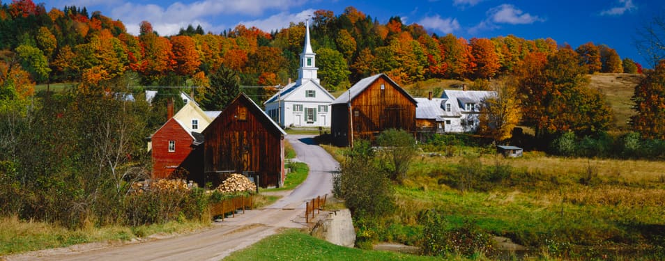
[[[484,232],[470,221],[462,226],[452,227],[441,214],[428,211],[422,216],[425,227],[422,232],[420,250],[425,255],[448,256],[489,255],[494,251],[491,234]]]

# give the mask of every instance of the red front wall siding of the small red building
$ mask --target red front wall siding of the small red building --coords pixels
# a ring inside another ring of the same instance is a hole
[[[176,150],[169,152],[169,141],[176,141]],[[152,137],[153,172],[151,177],[167,178],[192,152],[192,136],[171,119]]]

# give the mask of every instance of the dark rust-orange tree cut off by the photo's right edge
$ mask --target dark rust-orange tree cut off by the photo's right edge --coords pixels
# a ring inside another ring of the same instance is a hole
[[[633,129],[650,139],[665,139],[665,60],[635,87],[631,100],[637,112],[630,119]]]

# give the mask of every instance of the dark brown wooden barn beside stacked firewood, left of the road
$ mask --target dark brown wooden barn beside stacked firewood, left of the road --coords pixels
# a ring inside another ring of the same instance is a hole
[[[203,134],[204,184],[215,186],[227,173],[258,176],[261,187],[284,184],[286,132],[244,93]]]

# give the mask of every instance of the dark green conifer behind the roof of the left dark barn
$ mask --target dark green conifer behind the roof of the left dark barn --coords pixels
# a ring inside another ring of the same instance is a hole
[[[210,76],[210,86],[203,90],[203,99],[199,101],[206,111],[222,111],[240,93],[238,72],[220,67]]]

